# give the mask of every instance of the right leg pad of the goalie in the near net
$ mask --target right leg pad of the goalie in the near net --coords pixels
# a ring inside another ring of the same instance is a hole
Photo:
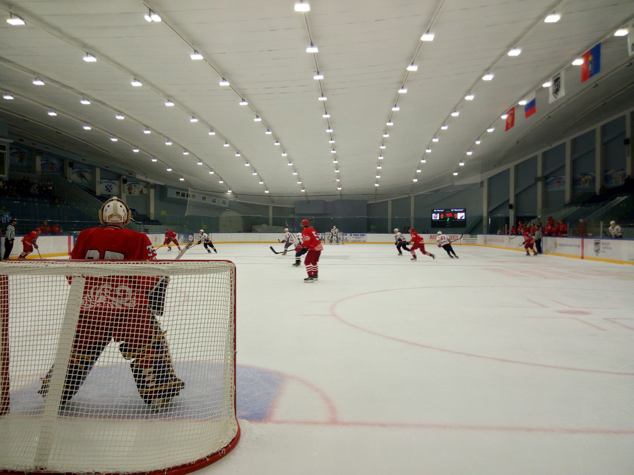
[[[185,387],[183,381],[174,374],[166,332],[162,331],[152,313],[147,315],[145,322],[136,322],[131,326],[126,323],[125,326],[141,334],[133,339],[129,335],[122,335],[119,351],[124,358],[131,360],[130,368],[143,402],[153,409],[160,409]]]

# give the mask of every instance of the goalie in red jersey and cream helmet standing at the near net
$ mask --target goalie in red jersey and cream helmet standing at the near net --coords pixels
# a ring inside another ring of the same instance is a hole
[[[148,236],[123,229],[130,221],[126,203],[110,198],[100,210],[103,227],[77,236],[71,259],[153,260],[156,252]],[[75,277],[77,279],[77,277]],[[70,284],[75,284],[70,277]],[[174,374],[165,332],[157,317],[163,314],[169,278],[159,276],[86,277],[61,402],[81,388],[91,369],[112,341],[130,363],[139,395],[152,409],[178,396],[184,383]],[[39,393],[46,398],[53,368],[42,379]]]

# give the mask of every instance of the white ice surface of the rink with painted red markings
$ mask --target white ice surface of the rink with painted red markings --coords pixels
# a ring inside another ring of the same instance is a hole
[[[633,266],[346,244],[306,284],[294,253],[216,247],[184,258],[237,265],[242,437],[201,473],[634,471]]]

